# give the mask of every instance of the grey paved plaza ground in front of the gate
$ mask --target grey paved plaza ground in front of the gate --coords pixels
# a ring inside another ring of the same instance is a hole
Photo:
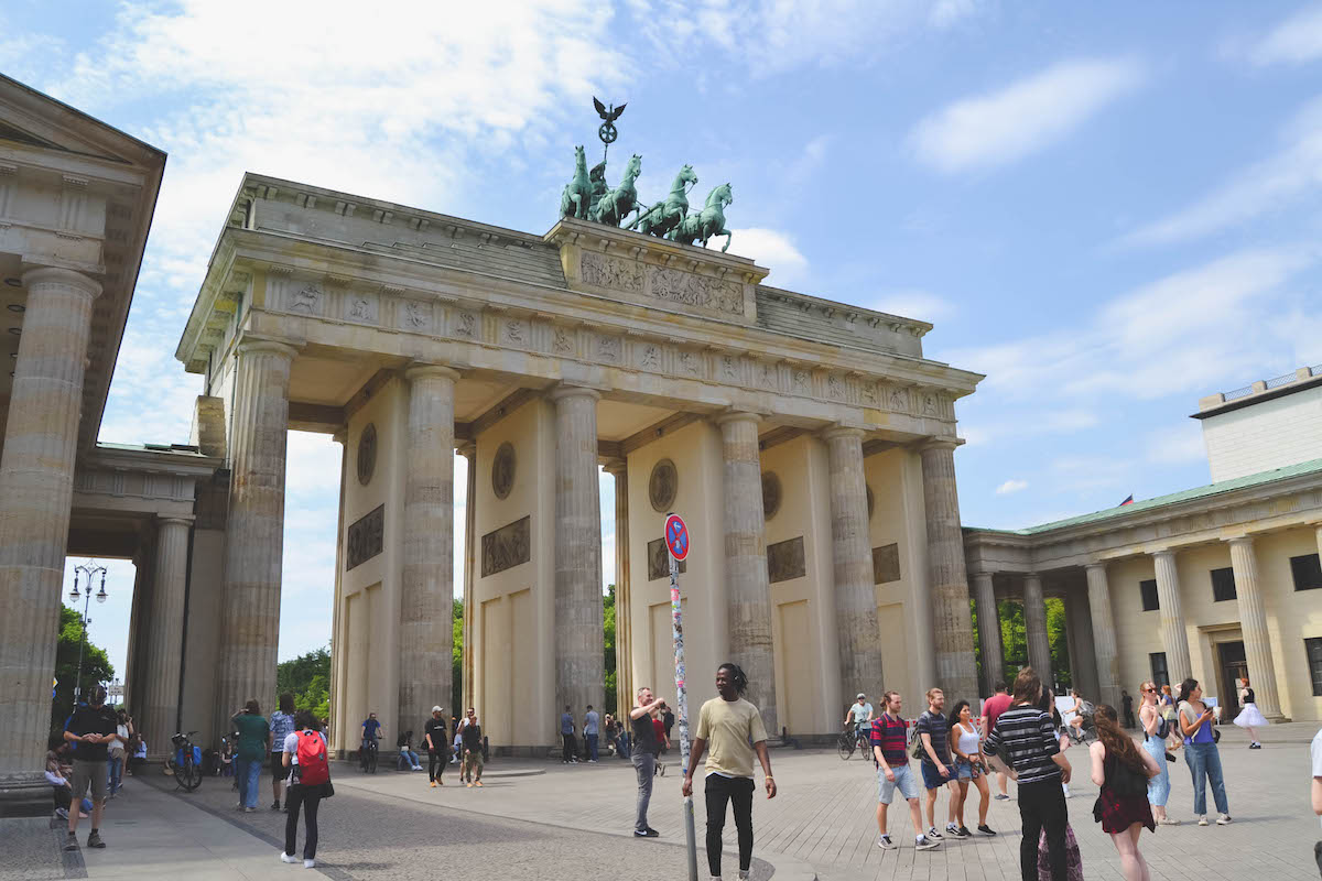
[[[1154,880],[1317,878],[1313,843],[1318,822],[1309,808],[1307,742],[1311,724],[1270,728],[1261,752],[1245,749],[1237,729],[1224,729],[1222,759],[1235,824],[1199,828],[1187,769],[1173,766],[1170,812],[1179,827],[1144,835],[1141,847]],[[1083,766],[1084,753],[1068,757]],[[672,754],[672,759],[674,756]],[[911,847],[875,847],[875,783],[870,763],[842,762],[822,750],[776,750],[772,757],[781,794],[754,804],[756,878],[781,881],[870,881],[874,878],[980,881],[1018,877],[1018,808],[993,802],[995,839],[947,841],[916,853]],[[619,759],[564,767],[559,762],[497,759],[481,789],[430,789],[424,774],[382,771],[365,777],[340,766],[337,795],[321,811],[320,872],[333,878],[430,878],[438,872],[465,881],[486,878],[683,878],[685,863],[677,765],[657,781],[652,824],[658,841],[628,837],[633,770]],[[1083,778],[1085,778],[1085,769]],[[264,786],[268,786],[263,781]],[[1096,787],[1076,779],[1068,802],[1071,826],[1083,851],[1084,876],[1118,880],[1118,860],[1108,836],[1092,820]],[[1011,794],[1014,786],[1010,787]],[[976,816],[976,798],[968,819]],[[58,831],[45,822],[0,822],[0,845],[16,859],[0,878],[268,878],[301,870],[276,861],[283,815],[262,802],[255,814],[233,810],[229,782],[208,779],[201,790],[171,791],[165,778],[130,781],[111,803],[104,837],[108,848],[61,860]],[[944,816],[945,799],[937,802]],[[705,822],[695,802],[699,835]],[[907,811],[892,810],[896,841],[912,840]],[[970,823],[972,826],[972,823]],[[735,856],[727,823],[727,865]],[[86,824],[83,826],[86,832]],[[706,878],[699,855],[701,878]],[[727,877],[734,873],[727,870]]]

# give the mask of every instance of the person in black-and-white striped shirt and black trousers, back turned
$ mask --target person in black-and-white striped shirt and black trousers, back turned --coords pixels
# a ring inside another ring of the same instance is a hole
[[[1060,741],[1051,716],[1039,708],[1042,680],[1032,667],[1025,667],[1014,680],[1014,701],[1001,713],[986,740],[984,752],[1009,765],[1019,782],[1019,870],[1023,881],[1038,878],[1038,841],[1047,831],[1048,860],[1054,881],[1066,881],[1066,808],[1062,783],[1069,782],[1069,762],[1060,753]]]

